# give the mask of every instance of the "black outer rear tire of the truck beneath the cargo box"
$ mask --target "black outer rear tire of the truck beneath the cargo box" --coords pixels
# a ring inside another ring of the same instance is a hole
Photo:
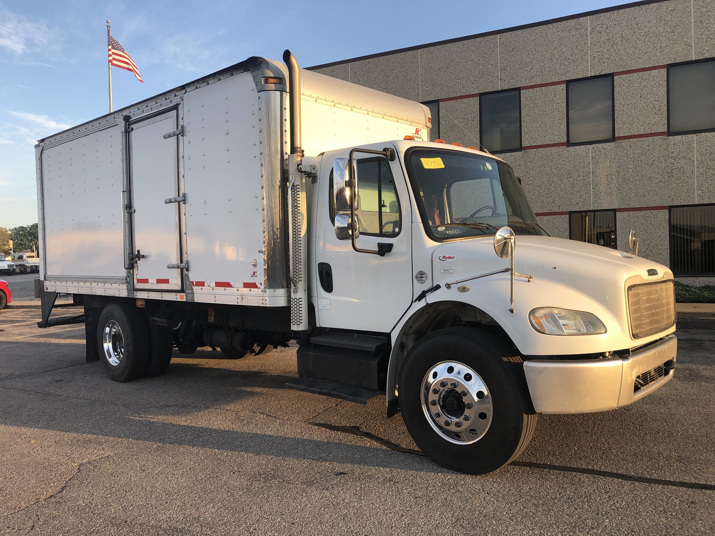
[[[109,337],[109,342],[119,346],[117,341],[121,341],[121,359],[117,359],[111,346],[107,352],[104,349],[105,330],[109,333],[113,327],[118,327],[119,332],[115,337]],[[127,382],[142,377],[149,360],[149,334],[139,309],[129,304],[118,303],[104,307],[97,327],[97,347],[99,359],[102,360],[107,375],[115,382]]]

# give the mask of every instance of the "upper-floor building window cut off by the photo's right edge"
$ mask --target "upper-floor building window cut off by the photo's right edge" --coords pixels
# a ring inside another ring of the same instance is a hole
[[[715,130],[715,60],[668,68],[668,132]]]

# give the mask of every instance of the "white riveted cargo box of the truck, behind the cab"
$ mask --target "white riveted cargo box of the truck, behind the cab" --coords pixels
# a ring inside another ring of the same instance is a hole
[[[288,305],[286,81],[253,57],[41,140],[45,289]],[[301,107],[306,163],[429,137],[426,106],[312,71]]]

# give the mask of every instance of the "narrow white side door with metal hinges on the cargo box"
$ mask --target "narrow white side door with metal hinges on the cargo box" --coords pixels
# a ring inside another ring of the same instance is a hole
[[[181,269],[167,264],[182,261],[180,203],[164,203],[178,197],[180,136],[164,138],[177,130],[177,110],[131,124],[129,177],[134,208],[134,287],[180,290]]]

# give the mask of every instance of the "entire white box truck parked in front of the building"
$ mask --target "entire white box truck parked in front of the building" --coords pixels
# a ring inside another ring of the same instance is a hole
[[[540,414],[669,382],[667,267],[549,237],[506,162],[427,141],[427,107],[284,61],[40,140],[40,327],[84,322],[119,382],[174,348],[295,339],[291,387],[383,394],[423,452],[473,474],[518,456]],[[50,318],[59,292],[84,314]]]

